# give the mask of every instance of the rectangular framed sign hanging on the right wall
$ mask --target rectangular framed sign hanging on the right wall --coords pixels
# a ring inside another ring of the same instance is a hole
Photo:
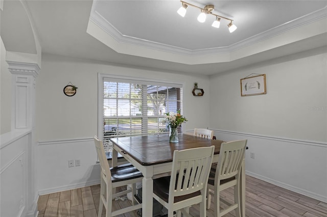
[[[266,94],[266,74],[241,79],[241,96]]]

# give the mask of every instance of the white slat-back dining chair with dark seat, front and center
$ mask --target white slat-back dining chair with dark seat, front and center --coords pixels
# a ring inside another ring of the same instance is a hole
[[[168,209],[168,217],[174,212],[190,216],[189,207],[194,204],[200,204],[200,216],[206,216],[206,186],[214,151],[215,146],[175,150],[171,176],[153,180],[153,198]]]

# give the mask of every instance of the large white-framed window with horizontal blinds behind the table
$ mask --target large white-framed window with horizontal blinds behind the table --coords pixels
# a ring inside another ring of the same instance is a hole
[[[182,110],[182,83],[99,75],[98,134],[104,141],[168,133],[162,120],[177,110]]]

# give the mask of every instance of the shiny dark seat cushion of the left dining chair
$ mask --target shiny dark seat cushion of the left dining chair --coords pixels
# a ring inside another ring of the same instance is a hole
[[[134,178],[143,177],[142,173],[139,172],[133,165],[125,164],[119,167],[110,168],[111,181],[118,182]]]

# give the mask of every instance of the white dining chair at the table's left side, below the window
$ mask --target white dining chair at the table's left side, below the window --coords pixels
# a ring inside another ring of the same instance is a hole
[[[136,194],[136,182],[142,181],[142,173],[139,172],[133,165],[125,164],[118,167],[109,167],[109,163],[104,151],[103,142],[94,137],[94,142],[96,145],[97,154],[100,161],[100,204],[98,217],[101,217],[103,206],[106,209],[106,217],[116,216],[122,213],[133,211],[136,209],[141,209],[142,204],[138,204],[134,198]],[[115,193],[115,188],[131,184],[131,189],[126,189],[125,191]],[[116,197],[127,195],[132,193],[132,205],[123,209],[118,209],[112,211],[112,200]]]

